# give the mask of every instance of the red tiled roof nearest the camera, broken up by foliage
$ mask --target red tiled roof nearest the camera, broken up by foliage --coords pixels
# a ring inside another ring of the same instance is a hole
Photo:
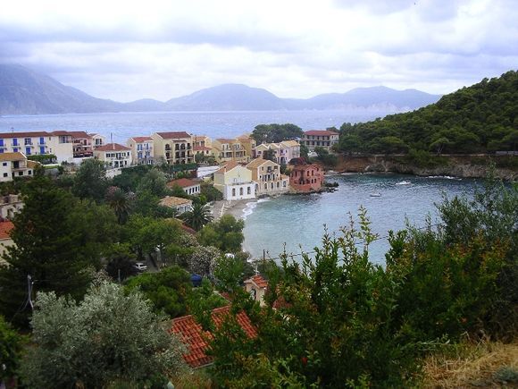
[[[226,317],[230,315],[230,306],[213,309],[212,318],[214,326],[219,327]],[[236,315],[238,325],[241,326],[249,338],[257,336],[257,330],[252,325],[250,318],[244,311]],[[213,339],[213,334],[204,331],[202,326],[196,323],[192,315],[178,317],[172,320],[170,333],[180,336],[180,340],[187,346],[187,352],[183,358],[191,368],[200,368],[212,363],[213,358],[206,355],[205,351],[209,347],[208,340]]]

